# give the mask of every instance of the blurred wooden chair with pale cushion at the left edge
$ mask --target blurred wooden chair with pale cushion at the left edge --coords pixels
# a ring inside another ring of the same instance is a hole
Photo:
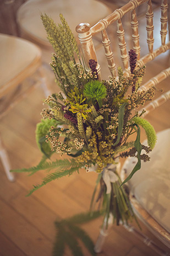
[[[46,77],[41,66],[41,50],[36,45],[15,36],[0,34],[0,118],[10,111],[19,100],[41,84],[45,96],[50,95]],[[21,89],[21,84],[28,81]],[[25,88],[26,87],[26,88]],[[10,181],[14,176],[9,172],[10,162],[8,154],[0,138],[0,158],[7,177]]]

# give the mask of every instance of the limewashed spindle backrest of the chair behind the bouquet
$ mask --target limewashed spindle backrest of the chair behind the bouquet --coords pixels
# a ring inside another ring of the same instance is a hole
[[[136,9],[142,4],[146,4],[146,31],[147,31],[147,40],[146,44],[148,45],[149,52],[145,55],[140,57],[140,44],[139,44],[139,29],[138,29],[138,19],[136,15]],[[146,63],[155,59],[158,55],[166,52],[170,49],[170,41],[167,41],[167,24],[168,24],[168,17],[167,17],[167,9],[168,3],[167,0],[162,0],[161,2],[161,45],[156,49],[153,50],[153,11],[152,11],[152,1],[151,0],[131,0],[123,7],[116,9],[112,14],[108,15],[106,18],[101,19],[98,23],[94,26],[90,27],[88,23],[81,23],[76,26],[76,32],[79,36],[79,41],[81,44],[81,51],[84,57],[85,67],[86,70],[90,70],[89,68],[89,60],[94,59],[97,61],[97,72],[99,74],[99,78],[101,79],[101,68],[100,64],[97,60],[96,50],[94,43],[92,41],[92,37],[96,34],[101,33],[102,35],[102,45],[105,49],[105,55],[108,63],[108,68],[111,72],[112,77],[117,76],[117,67],[114,62],[114,56],[111,49],[111,41],[108,38],[106,28],[109,25],[117,22],[117,37],[118,37],[118,46],[120,49],[120,57],[123,62],[124,74],[130,73],[129,68],[129,57],[127,54],[127,44],[125,42],[125,31],[122,25],[122,18],[125,14],[131,13],[131,40],[133,42],[133,49],[135,50],[136,54],[138,54],[138,64],[140,67],[144,66]],[[114,40],[116,44],[116,40]],[[130,50],[130,49],[129,49]],[[162,71],[161,73],[157,74],[156,77],[150,79],[150,81],[146,82],[141,89],[147,89],[151,86],[156,86],[159,82],[163,79],[167,78],[170,74],[170,67],[166,70]],[[162,99],[167,100],[170,98],[170,91],[167,92],[165,96],[162,96],[160,102],[162,103]],[[157,104],[157,103],[156,103]]]

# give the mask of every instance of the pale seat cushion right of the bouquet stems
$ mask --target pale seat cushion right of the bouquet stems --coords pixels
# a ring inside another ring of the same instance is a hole
[[[147,145],[147,142],[144,142]],[[149,162],[141,162],[141,169],[129,181],[136,200],[155,220],[170,232],[170,129],[158,132],[157,143],[150,152]],[[127,175],[136,158],[125,161]]]

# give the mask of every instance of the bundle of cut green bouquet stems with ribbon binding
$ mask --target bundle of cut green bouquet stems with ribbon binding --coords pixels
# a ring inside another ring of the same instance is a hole
[[[129,201],[128,187],[127,185],[121,186],[121,184],[122,181],[115,164],[108,164],[98,175],[90,209],[94,210],[95,204],[98,202],[98,207],[105,213],[103,225],[106,229],[111,215],[112,223],[116,222],[116,225],[119,223],[128,225],[128,222],[135,217]],[[100,186],[98,195],[96,195],[97,186]]]

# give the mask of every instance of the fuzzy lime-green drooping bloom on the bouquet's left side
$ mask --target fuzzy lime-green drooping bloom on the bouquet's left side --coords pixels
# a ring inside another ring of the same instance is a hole
[[[56,122],[57,121],[54,119],[47,118],[42,119],[41,122],[39,122],[36,126],[35,137],[37,146],[40,148],[42,153],[45,153],[47,155],[49,155],[51,152],[50,142],[47,143],[45,142],[45,140],[42,140],[42,142],[40,142],[40,140],[48,134],[51,126],[56,125]]]

